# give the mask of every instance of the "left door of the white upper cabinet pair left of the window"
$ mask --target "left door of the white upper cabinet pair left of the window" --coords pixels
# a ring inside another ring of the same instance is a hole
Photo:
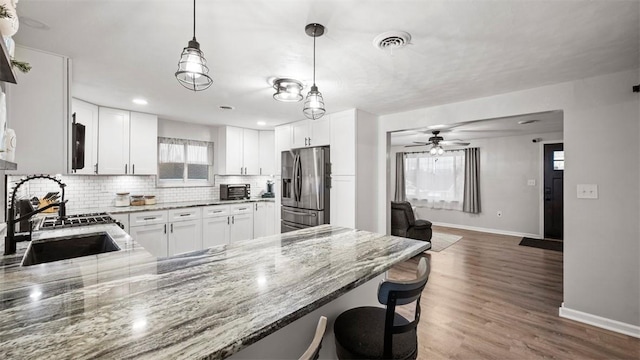
[[[129,112],[100,107],[98,110],[98,174],[130,174]]]

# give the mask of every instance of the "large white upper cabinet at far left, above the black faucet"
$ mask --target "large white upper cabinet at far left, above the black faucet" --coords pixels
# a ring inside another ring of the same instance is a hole
[[[16,71],[17,84],[6,84],[6,126],[18,139],[13,160],[18,169],[7,174],[66,174],[71,168],[71,60],[22,46],[16,46],[15,58],[32,69],[27,74]]]

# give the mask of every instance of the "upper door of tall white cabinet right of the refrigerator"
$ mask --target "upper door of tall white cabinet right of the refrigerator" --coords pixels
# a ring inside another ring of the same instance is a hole
[[[355,113],[343,111],[331,114],[331,173],[356,174],[356,118]],[[340,154],[339,156],[337,156]]]

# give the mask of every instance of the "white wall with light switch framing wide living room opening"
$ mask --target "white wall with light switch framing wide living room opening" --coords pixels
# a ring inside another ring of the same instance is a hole
[[[418,126],[564,111],[564,303],[599,326],[640,336],[640,107],[638,69],[380,117],[378,163],[387,132]],[[379,231],[388,229],[388,169],[378,171]],[[597,184],[599,199],[576,198]],[[566,312],[565,312],[566,313]],[[620,329],[618,329],[620,330]]]

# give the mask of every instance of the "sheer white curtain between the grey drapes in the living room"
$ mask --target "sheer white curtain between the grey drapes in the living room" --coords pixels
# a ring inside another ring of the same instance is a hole
[[[464,152],[406,153],[405,194],[412,204],[433,209],[462,210]]]

